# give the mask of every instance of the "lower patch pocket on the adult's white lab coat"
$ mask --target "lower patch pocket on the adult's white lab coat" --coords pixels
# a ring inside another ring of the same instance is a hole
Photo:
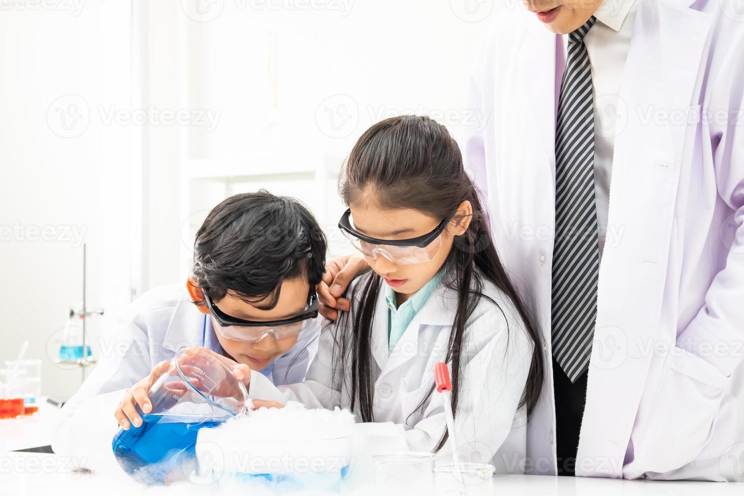
[[[728,378],[707,361],[674,347],[640,439],[635,460],[644,471],[666,472],[695,460],[708,442]]]

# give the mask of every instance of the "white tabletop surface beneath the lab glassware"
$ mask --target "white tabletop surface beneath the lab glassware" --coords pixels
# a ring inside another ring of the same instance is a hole
[[[118,467],[105,472],[79,471],[86,460],[56,454],[14,452],[13,450],[48,445],[51,426],[58,409],[43,402],[39,413],[23,419],[0,420],[0,495],[214,495],[256,494],[234,492],[217,483],[182,481],[170,486],[146,487],[130,479]],[[12,452],[13,451],[13,452]],[[545,477],[496,475],[494,495],[508,496],[744,496],[744,484],[693,481],[660,482],[650,480],[589,479],[583,477]],[[262,492],[266,494],[265,491]],[[295,493],[298,494],[298,493]],[[303,493],[307,494],[307,493]],[[357,488],[354,495],[376,495],[373,481]]]

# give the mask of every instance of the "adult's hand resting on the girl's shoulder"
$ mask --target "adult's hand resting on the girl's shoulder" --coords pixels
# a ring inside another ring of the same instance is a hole
[[[364,255],[354,253],[331,260],[326,264],[323,280],[318,284],[318,310],[325,318],[335,321],[339,311],[348,312],[351,302],[341,298],[351,280],[368,268]]]

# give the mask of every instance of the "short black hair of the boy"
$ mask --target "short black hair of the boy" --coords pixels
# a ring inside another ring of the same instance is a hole
[[[230,290],[272,309],[285,280],[307,277],[312,292],[323,277],[326,244],[315,217],[297,199],[266,190],[240,193],[214,207],[196,233],[193,281],[212,300]]]

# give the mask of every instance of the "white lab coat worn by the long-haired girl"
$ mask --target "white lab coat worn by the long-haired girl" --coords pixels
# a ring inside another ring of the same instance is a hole
[[[484,281],[484,286],[484,294],[498,306],[481,298],[466,326],[461,352],[462,396],[455,415],[458,454],[474,462],[493,458],[499,473],[523,473],[527,422],[525,408],[518,405],[533,346],[509,300],[492,283]],[[434,391],[423,408],[417,406],[434,385],[434,364],[444,361],[456,298],[455,292],[440,284],[388,354],[388,306],[384,286],[380,290],[371,329],[375,422],[363,427],[368,434],[388,439],[387,446],[407,443],[414,451],[432,451],[445,431],[440,393]],[[360,306],[355,298],[353,308]],[[253,374],[248,395],[302,402],[308,408],[348,408],[351,371],[343,371],[346,380],[333,380],[333,367],[340,365],[333,350],[336,332],[353,329],[324,326],[304,382],[275,387],[260,374]],[[385,447],[377,448],[384,451]],[[440,451],[440,459],[451,463],[451,449],[448,443]]]

